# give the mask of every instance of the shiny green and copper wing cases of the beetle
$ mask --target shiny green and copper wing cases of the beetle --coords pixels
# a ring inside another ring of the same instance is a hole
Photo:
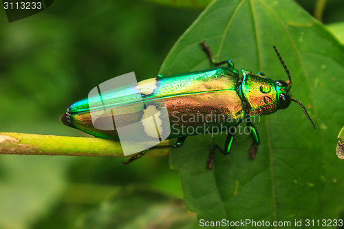
[[[61,120],[69,126],[96,137],[118,140],[116,129],[114,131],[95,129],[90,112],[97,113],[111,109],[117,116],[116,119],[122,121],[116,122],[116,126],[120,124],[124,127],[142,120],[143,111],[136,107],[144,102],[146,106],[154,105],[158,108],[166,105],[170,123],[175,124],[173,127],[178,129],[175,131],[178,133],[171,131],[169,139],[182,137],[184,134],[181,128],[199,127],[198,133],[204,133],[206,128],[217,127],[221,124],[224,127],[235,126],[244,118],[244,105],[237,93],[238,83],[239,74],[236,69],[230,67],[158,76],[143,80],[138,85],[129,86],[124,90],[107,91],[102,94],[105,103],[99,102],[96,97],[75,102],[67,109]],[[207,122],[204,117],[209,114],[221,115],[222,120]],[[203,118],[197,120],[194,116]],[[193,120],[188,122],[191,118]],[[224,122],[229,118],[230,122]],[[128,129],[128,131],[134,130]]]

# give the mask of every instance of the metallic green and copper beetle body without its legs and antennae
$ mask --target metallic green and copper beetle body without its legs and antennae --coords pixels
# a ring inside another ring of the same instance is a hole
[[[174,124],[175,129],[169,135],[171,139],[185,136],[182,128],[197,127],[198,133],[206,133],[209,127],[223,129],[236,126],[246,114],[255,117],[277,111],[279,94],[289,94],[288,87],[277,86],[274,80],[266,76],[246,70],[242,70],[242,73],[243,78],[239,80],[237,69],[229,66],[172,76],[157,76],[143,80],[138,85],[106,91],[102,94],[105,102],[99,102],[96,97],[75,102],[63,114],[61,120],[70,127],[98,138],[118,140],[116,129],[96,129],[90,112],[102,113],[111,110],[116,120],[120,120],[116,122],[116,126],[125,127],[142,120],[142,103],[158,108],[166,105],[171,126]],[[195,119],[195,116],[203,118]],[[213,118],[209,118],[210,122],[204,117],[217,117],[217,120],[214,122]],[[101,120],[100,118],[99,121]]]

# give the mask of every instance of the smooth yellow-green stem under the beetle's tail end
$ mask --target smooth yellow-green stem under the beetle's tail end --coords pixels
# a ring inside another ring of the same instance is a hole
[[[168,143],[164,141],[162,145]],[[1,132],[0,154],[124,157],[120,142],[113,140]],[[169,149],[152,150],[148,153],[151,156],[168,154]]]

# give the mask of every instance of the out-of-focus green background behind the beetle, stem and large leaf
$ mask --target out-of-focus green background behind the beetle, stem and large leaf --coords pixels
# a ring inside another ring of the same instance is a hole
[[[316,1],[299,1],[310,14]],[[0,131],[86,136],[61,113],[109,78],[158,74],[173,43],[201,9],[147,1],[55,1],[8,23],[0,9]],[[344,2],[327,1],[323,22],[344,21]],[[216,25],[214,25],[216,26]],[[0,156],[0,228],[75,228],[121,188],[182,198],[167,157]],[[136,206],[132,206],[136,208]]]

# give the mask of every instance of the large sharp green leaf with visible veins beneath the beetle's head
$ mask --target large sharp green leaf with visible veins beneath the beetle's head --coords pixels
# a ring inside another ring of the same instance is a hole
[[[229,58],[237,69],[288,80],[276,45],[292,75],[293,98],[303,102],[316,130],[292,102],[255,121],[261,139],[255,160],[248,159],[250,136],[237,134],[230,155],[216,152],[211,171],[205,168],[209,149],[224,144],[225,133],[188,138],[170,157],[187,208],[208,221],[337,219],[344,210],[338,195],[344,166],[332,152],[343,124],[343,47],[293,1],[218,0],[175,43],[160,73],[211,68],[201,41],[216,61]]]

